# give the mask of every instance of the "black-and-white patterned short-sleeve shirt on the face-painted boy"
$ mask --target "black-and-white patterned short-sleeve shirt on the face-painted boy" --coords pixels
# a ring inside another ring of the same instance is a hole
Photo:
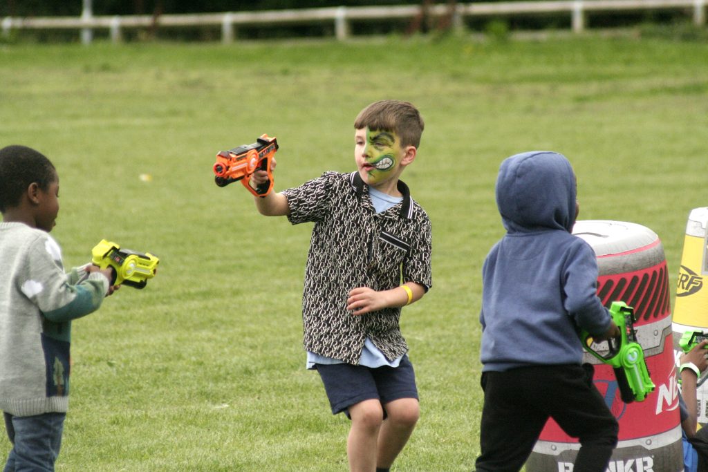
[[[399,180],[398,188],[403,200],[378,214],[357,172],[326,172],[282,192],[292,224],[314,222],[302,297],[305,350],[357,364],[368,337],[387,359],[408,352],[400,308],[361,316],[346,309],[356,287],[432,286],[430,220],[406,184]]]

